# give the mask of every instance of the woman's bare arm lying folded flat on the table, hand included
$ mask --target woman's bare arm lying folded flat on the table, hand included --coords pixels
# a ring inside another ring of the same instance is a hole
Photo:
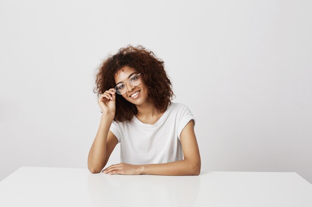
[[[128,175],[199,175],[201,160],[194,132],[194,123],[189,121],[180,135],[184,159],[161,164],[132,165],[120,163],[105,169],[105,173]]]

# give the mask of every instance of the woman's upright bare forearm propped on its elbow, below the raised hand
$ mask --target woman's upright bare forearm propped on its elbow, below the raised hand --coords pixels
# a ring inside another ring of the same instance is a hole
[[[103,114],[100,126],[92,143],[88,156],[88,169],[92,173],[99,173],[105,167],[107,136],[114,120],[114,116]]]

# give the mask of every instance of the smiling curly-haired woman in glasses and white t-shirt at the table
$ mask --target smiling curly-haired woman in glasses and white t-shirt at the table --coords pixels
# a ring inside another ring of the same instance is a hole
[[[170,101],[163,63],[144,47],[128,45],[99,68],[95,89],[102,117],[88,156],[92,173],[101,172],[120,142],[121,163],[103,173],[199,175],[195,119],[185,105]]]

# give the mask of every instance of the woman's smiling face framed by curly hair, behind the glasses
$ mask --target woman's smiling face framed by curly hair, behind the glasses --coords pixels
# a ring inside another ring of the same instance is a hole
[[[139,73],[136,69],[129,67],[129,66],[124,66],[122,69],[120,69],[116,74],[115,74],[115,84],[117,85],[118,83],[122,82],[125,83],[125,81],[129,80],[129,77],[134,73],[137,72]],[[142,74],[141,74],[142,75]],[[125,83],[126,85],[126,93],[122,94],[122,96],[129,102],[135,104],[135,105],[141,105],[145,101],[147,101],[148,98],[148,87],[145,85],[141,75],[139,76],[140,78],[140,84],[137,86],[133,86],[127,81]],[[139,94],[135,97],[131,97],[132,94],[136,93],[137,91],[140,91]],[[116,95],[120,95],[117,94]]]

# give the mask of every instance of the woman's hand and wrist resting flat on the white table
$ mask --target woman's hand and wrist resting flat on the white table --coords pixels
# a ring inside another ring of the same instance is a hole
[[[108,168],[102,171],[103,173],[121,174],[121,175],[141,175],[142,174],[142,165],[133,165],[127,163],[119,163],[116,165],[111,165]]]

